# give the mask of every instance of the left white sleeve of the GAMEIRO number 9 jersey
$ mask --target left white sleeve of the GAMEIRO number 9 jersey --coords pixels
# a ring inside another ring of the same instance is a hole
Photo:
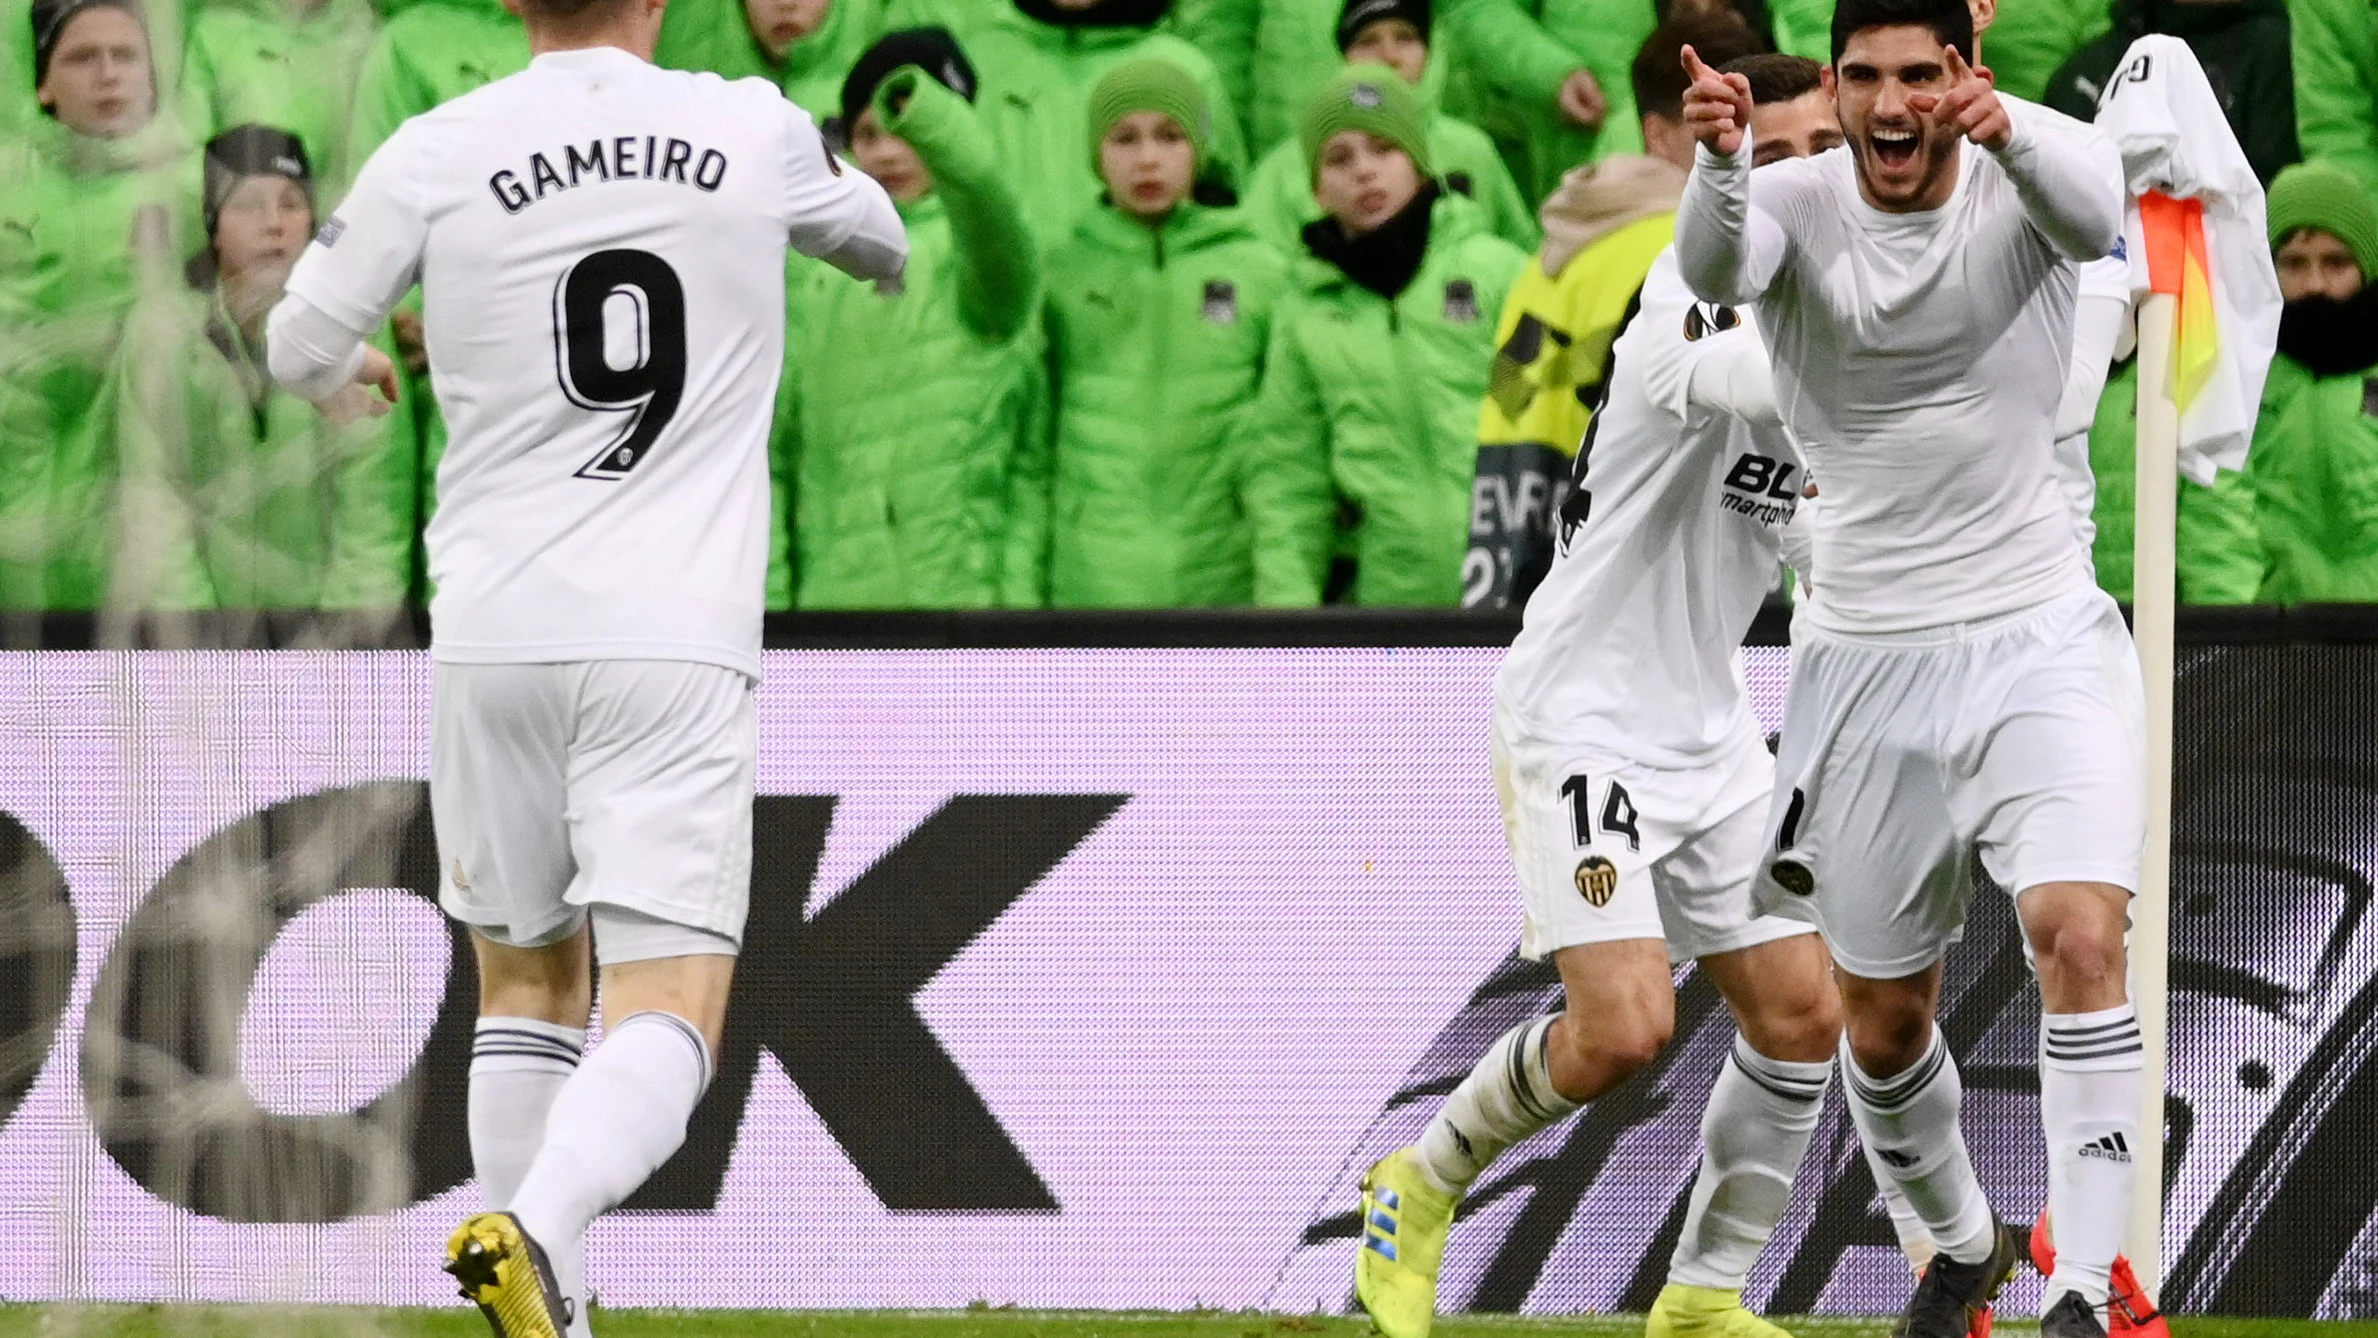
[[[414,135],[397,131],[373,150],[354,178],[354,190],[314,233],[297,257],[288,292],[304,297],[354,335],[388,321],[421,273],[421,250],[428,245],[428,216],[414,185]]]

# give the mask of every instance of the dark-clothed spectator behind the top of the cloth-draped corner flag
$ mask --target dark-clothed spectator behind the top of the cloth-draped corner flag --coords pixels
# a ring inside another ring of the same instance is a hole
[[[2269,183],[2304,157],[2295,145],[2285,0],[2114,0],[2114,29],[2057,69],[2047,105],[2093,121],[2109,86],[2124,78],[2124,52],[2147,33],[2181,38],[2197,55],[2254,176]]]

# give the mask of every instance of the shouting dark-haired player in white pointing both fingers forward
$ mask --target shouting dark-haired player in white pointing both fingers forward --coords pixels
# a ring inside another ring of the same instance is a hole
[[[1933,1027],[1978,853],[2017,898],[2045,1001],[2043,1333],[2095,1338],[2140,1138],[2124,927],[2145,711],[2055,435],[2078,266],[2119,240],[2121,166],[2095,131],[2002,102],[1971,36],[1962,0],[1843,0],[1850,152],[1762,173],[1745,88],[1686,50],[1700,147],[1676,254],[1703,299],[1757,302],[1824,487],[1757,896],[1824,932],[1860,1136],[1940,1250],[1898,1333],[1964,1333],[2019,1250],[1974,1176]]]

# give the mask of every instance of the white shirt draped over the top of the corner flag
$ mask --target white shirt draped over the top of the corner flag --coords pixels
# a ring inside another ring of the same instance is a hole
[[[2097,128],[2121,145],[2131,188],[2121,242],[2135,292],[2147,292],[2138,197],[2159,190],[2204,202],[2221,354],[2212,380],[2181,416],[2181,473],[2212,485],[2216,471],[2245,468],[2261,380],[2278,349],[2278,271],[2264,231],[2261,181],[2238,147],[2204,67],[2181,38],[2152,33],[2131,43],[2097,97]]]

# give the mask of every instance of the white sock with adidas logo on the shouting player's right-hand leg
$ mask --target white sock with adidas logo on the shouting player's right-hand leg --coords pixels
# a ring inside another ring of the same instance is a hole
[[[2040,1305],[2076,1290],[2105,1307],[2107,1271],[2131,1229],[2145,1081],[2138,1008],[2040,1017],[2047,1217],[2057,1224],[2057,1271]]]

